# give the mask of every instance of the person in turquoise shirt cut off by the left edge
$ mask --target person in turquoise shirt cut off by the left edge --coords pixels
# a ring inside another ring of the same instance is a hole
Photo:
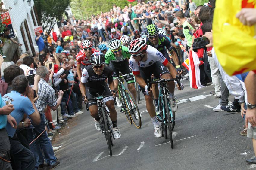
[[[5,126],[7,120],[9,119],[7,118],[7,115],[9,115],[13,110],[13,105],[5,105],[2,97],[0,96],[0,156],[7,161],[10,161],[10,141]],[[12,119],[14,118],[12,117]],[[14,124],[17,126],[16,122]],[[13,124],[12,126],[14,127]],[[0,169],[11,169],[11,163],[0,159]]]

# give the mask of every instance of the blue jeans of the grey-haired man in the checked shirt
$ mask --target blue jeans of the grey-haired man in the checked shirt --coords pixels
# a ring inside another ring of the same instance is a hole
[[[28,129],[27,131],[30,143],[34,140],[34,138],[39,136],[45,130],[45,115],[41,114],[40,117],[40,124],[37,126],[34,125],[34,129]],[[56,162],[57,158],[54,156],[54,152],[52,150],[52,143],[48,138],[48,134],[46,131],[43,132],[36,141],[30,144],[30,150],[35,155],[36,167],[44,163],[44,157],[42,155],[41,148],[43,150],[47,163],[53,165]]]

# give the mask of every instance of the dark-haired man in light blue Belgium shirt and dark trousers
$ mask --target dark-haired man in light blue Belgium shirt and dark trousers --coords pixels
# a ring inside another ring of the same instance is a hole
[[[19,75],[12,80],[11,93],[7,93],[3,96],[3,101],[11,101],[14,105],[14,111],[10,114],[16,120],[17,124],[21,122],[26,114],[31,118],[34,124],[40,123],[40,115],[33,102],[34,92],[29,87],[27,77],[25,75]],[[22,128],[24,125],[22,125]],[[7,122],[6,130],[9,136],[11,151],[14,155],[15,161],[21,162],[21,169],[34,169],[35,159],[34,154],[24,147],[15,133],[16,129]]]

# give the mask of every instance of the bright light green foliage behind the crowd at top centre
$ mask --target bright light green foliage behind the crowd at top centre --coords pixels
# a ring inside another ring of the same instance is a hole
[[[114,4],[123,9],[129,3],[127,0],[71,0],[71,10],[77,19],[89,19],[91,14],[109,12]]]

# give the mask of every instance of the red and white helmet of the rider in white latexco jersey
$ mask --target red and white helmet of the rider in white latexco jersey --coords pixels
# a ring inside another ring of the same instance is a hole
[[[137,38],[130,42],[129,44],[129,52],[132,55],[139,55],[143,51],[145,51],[148,48],[148,44],[146,42],[146,38]]]

